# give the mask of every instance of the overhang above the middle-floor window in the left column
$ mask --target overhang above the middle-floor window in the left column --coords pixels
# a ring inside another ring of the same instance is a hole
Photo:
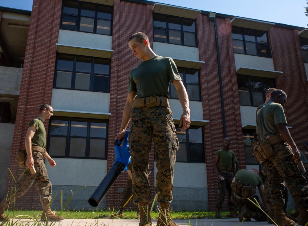
[[[71,46],[71,45],[63,45],[63,44],[57,43],[57,52],[111,59],[113,50],[87,48],[83,46]]]

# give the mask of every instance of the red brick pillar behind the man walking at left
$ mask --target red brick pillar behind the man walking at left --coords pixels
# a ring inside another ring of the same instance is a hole
[[[22,168],[17,167],[14,156],[18,149],[25,148],[28,124],[39,115],[39,107],[43,103],[51,103],[61,4],[62,1],[55,0],[33,2],[9,166],[16,179]],[[47,130],[48,120],[45,127]],[[14,180],[9,174],[6,191],[13,186]],[[39,195],[33,185],[15,202],[15,207],[39,208],[39,203]]]

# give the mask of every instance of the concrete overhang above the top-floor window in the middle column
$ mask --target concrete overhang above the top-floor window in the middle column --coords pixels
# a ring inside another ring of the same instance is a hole
[[[167,14],[189,19],[197,19],[198,15],[201,13],[201,10],[194,10],[180,6],[155,3],[153,6],[153,13]]]

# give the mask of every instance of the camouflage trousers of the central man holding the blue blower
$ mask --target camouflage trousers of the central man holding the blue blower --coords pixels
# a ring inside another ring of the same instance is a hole
[[[173,199],[173,176],[176,151],[179,141],[168,107],[141,107],[131,111],[131,125],[128,137],[132,157],[132,187],[135,204],[152,202],[148,180],[149,154],[154,141],[156,161],[157,202],[171,203]]]

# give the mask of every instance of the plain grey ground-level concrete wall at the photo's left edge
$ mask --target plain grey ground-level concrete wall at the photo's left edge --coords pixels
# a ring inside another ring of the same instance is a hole
[[[0,123],[0,197],[5,196],[15,124]]]

